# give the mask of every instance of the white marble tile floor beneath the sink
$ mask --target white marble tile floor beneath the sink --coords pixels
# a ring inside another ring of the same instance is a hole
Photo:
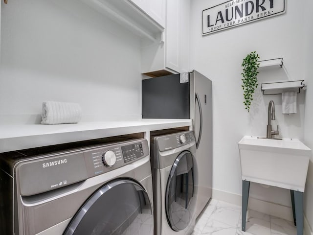
[[[241,207],[212,199],[196,221],[192,235],[296,235],[293,222],[248,210],[241,231]]]

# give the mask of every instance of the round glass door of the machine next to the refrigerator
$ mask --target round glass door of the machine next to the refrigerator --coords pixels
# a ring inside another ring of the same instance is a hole
[[[165,207],[169,225],[174,231],[186,228],[194,215],[193,156],[183,151],[176,158],[167,181]]]

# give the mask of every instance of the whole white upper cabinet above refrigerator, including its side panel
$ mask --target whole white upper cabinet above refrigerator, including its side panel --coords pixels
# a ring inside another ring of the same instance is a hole
[[[167,0],[164,34],[142,47],[142,73],[161,76],[189,71],[189,9],[190,0]]]

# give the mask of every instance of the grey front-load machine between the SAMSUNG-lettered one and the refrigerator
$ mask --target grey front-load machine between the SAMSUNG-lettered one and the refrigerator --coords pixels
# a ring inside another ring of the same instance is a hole
[[[151,135],[155,235],[189,235],[196,220],[196,142],[192,131]]]

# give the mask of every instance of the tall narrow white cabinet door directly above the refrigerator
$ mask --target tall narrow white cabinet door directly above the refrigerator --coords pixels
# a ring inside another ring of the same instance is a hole
[[[180,0],[168,0],[166,6],[165,66],[179,72]]]

